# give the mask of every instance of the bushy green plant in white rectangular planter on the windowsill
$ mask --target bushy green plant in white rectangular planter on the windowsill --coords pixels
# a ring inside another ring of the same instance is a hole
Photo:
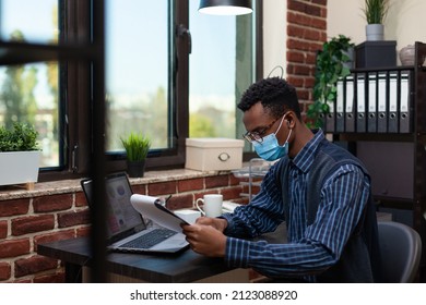
[[[34,187],[38,180],[40,150],[38,133],[33,125],[14,123],[0,126],[0,185],[26,184]]]

